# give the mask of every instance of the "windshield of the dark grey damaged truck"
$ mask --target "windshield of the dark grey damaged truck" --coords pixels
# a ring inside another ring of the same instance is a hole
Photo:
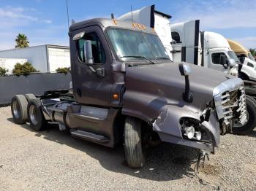
[[[110,28],[107,33],[121,61],[170,60],[157,35],[121,28]]]

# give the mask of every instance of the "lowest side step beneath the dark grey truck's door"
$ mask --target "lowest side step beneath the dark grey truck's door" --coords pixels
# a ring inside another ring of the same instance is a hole
[[[89,133],[84,130],[70,130],[70,133],[72,136],[78,137],[80,139],[86,139],[89,141],[97,141],[102,144],[108,143],[110,141],[110,139],[108,139],[105,136],[97,135],[94,133]]]

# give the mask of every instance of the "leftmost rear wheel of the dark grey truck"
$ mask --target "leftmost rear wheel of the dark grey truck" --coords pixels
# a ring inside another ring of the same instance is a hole
[[[14,95],[11,102],[12,117],[15,123],[21,125],[26,123],[28,101],[24,95]]]

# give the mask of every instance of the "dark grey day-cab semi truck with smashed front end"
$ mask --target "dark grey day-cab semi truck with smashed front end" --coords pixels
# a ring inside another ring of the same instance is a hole
[[[214,152],[220,135],[246,123],[244,82],[219,71],[173,63],[153,28],[92,19],[69,28],[73,95],[15,95],[12,116],[34,130],[59,130],[106,147],[124,142],[127,163],[142,167],[161,140]]]

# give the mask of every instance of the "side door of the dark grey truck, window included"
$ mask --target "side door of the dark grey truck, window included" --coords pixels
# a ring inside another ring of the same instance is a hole
[[[74,39],[74,36],[83,36]],[[84,43],[91,41],[94,63],[86,63]],[[112,56],[102,29],[90,26],[72,31],[70,38],[72,86],[75,101],[84,105],[108,106],[110,90]]]

